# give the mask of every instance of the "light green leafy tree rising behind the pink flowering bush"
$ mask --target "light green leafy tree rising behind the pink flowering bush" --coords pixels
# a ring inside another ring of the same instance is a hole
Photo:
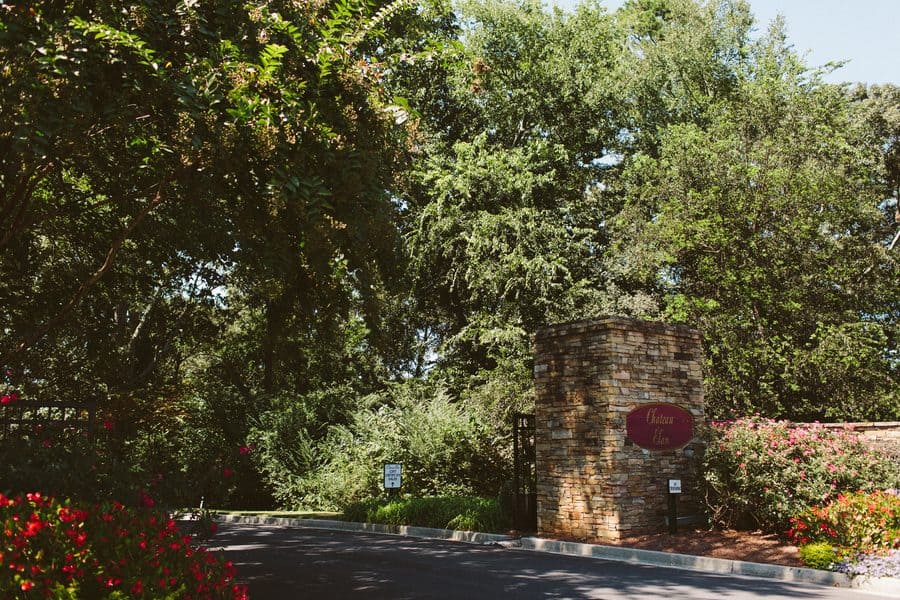
[[[616,258],[703,330],[713,416],[896,418],[881,147],[777,24],[746,55],[731,99],[628,158]]]

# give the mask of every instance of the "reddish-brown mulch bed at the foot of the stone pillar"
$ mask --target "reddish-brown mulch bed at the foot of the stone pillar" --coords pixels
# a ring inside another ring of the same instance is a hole
[[[679,531],[675,535],[658,533],[626,538],[620,542],[600,540],[594,540],[594,542],[788,567],[803,566],[797,555],[796,546],[779,540],[775,535],[766,535],[759,531],[686,530]]]

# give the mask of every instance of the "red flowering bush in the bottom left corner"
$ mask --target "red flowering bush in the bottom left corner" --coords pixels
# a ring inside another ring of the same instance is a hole
[[[0,597],[246,599],[235,569],[154,510],[0,493]]]

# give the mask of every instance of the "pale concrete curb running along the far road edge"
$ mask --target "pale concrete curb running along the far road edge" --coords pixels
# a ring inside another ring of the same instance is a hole
[[[475,531],[455,531],[452,529],[432,529],[430,527],[413,527],[407,525],[381,525],[377,523],[353,523],[329,519],[290,519],[284,517],[255,517],[244,515],[218,515],[218,521],[252,525],[277,525],[281,527],[300,527],[306,529],[330,529],[337,531],[355,531],[361,533],[380,533],[402,535],[407,537],[451,540],[469,544],[497,544],[504,548],[529,550],[533,552],[549,552],[567,556],[586,556],[601,560],[615,560],[656,567],[671,567],[719,573],[723,575],[743,575],[763,579],[777,579],[796,583],[810,583],[829,587],[847,587],[865,590],[900,598],[900,586],[897,579],[890,578],[851,578],[844,573],[805,569],[800,567],[783,567],[742,560],[709,558],[655,550],[640,550],[623,546],[603,546],[600,544],[581,544],[578,542],[560,542],[537,537],[513,538],[495,533],[479,533]]]

